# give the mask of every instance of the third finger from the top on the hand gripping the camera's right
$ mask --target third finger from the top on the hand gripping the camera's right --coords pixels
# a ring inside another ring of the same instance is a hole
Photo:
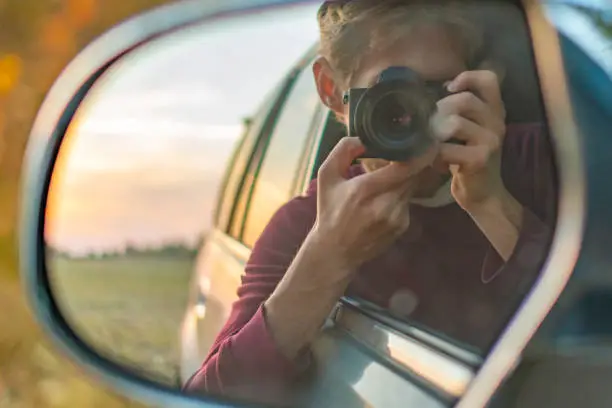
[[[500,136],[458,115],[451,115],[436,122],[432,129],[436,139],[441,142],[454,139],[465,142],[468,146],[486,145],[491,150],[498,150],[501,144]]]

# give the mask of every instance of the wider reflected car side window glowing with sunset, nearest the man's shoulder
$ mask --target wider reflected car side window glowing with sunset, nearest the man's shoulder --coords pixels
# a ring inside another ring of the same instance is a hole
[[[278,117],[257,175],[242,237],[247,246],[255,244],[272,215],[293,196],[304,146],[319,107],[314,78],[307,67]]]

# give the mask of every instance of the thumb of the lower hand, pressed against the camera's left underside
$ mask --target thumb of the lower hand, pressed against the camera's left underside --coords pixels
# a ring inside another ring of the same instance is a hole
[[[343,137],[319,167],[318,178],[327,183],[345,180],[353,161],[364,152],[359,138]]]

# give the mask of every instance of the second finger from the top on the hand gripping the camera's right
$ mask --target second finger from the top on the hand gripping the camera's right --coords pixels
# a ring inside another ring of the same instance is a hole
[[[460,115],[488,128],[494,128],[502,121],[491,107],[472,92],[449,95],[437,102],[437,108],[437,114],[441,117]]]

